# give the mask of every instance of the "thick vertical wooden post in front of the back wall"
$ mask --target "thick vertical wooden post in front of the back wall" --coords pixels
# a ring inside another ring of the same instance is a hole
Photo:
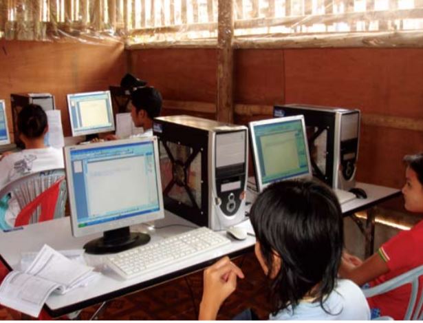
[[[219,0],[217,23],[217,120],[233,121],[233,0]]]

